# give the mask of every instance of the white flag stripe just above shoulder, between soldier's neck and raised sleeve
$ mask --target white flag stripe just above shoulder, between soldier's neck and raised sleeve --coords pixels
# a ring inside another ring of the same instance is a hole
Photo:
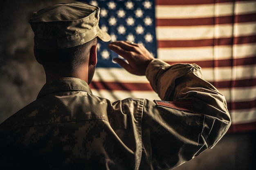
[[[143,99],[160,99],[154,91],[108,91],[108,90],[95,90],[92,93],[99,97],[105,97],[111,102],[126,99],[128,97],[143,98]]]

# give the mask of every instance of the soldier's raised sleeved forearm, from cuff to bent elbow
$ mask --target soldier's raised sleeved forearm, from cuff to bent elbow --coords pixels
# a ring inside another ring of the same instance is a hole
[[[196,64],[170,66],[160,60],[153,60],[148,65],[146,76],[162,100],[189,101],[193,113],[204,115],[202,135],[211,148],[227,132],[231,120],[225,97],[200,78],[200,69]]]

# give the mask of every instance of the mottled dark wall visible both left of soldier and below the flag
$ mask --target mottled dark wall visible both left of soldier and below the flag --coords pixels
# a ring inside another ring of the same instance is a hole
[[[0,123],[29,104],[45,83],[43,67],[34,59],[33,11],[69,0],[5,0],[0,2]],[[177,170],[255,170],[255,132],[226,135]]]

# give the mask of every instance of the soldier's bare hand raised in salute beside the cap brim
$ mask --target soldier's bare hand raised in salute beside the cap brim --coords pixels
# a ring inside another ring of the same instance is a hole
[[[145,75],[148,64],[154,59],[143,45],[133,42],[116,41],[108,44],[108,48],[124,57],[128,63],[120,58],[113,60],[135,75]]]

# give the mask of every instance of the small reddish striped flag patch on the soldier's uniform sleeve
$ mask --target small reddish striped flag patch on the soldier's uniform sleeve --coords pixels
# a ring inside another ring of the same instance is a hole
[[[164,106],[168,108],[175,108],[177,110],[183,110],[193,112],[192,103],[190,101],[163,101],[154,100],[158,106]]]

